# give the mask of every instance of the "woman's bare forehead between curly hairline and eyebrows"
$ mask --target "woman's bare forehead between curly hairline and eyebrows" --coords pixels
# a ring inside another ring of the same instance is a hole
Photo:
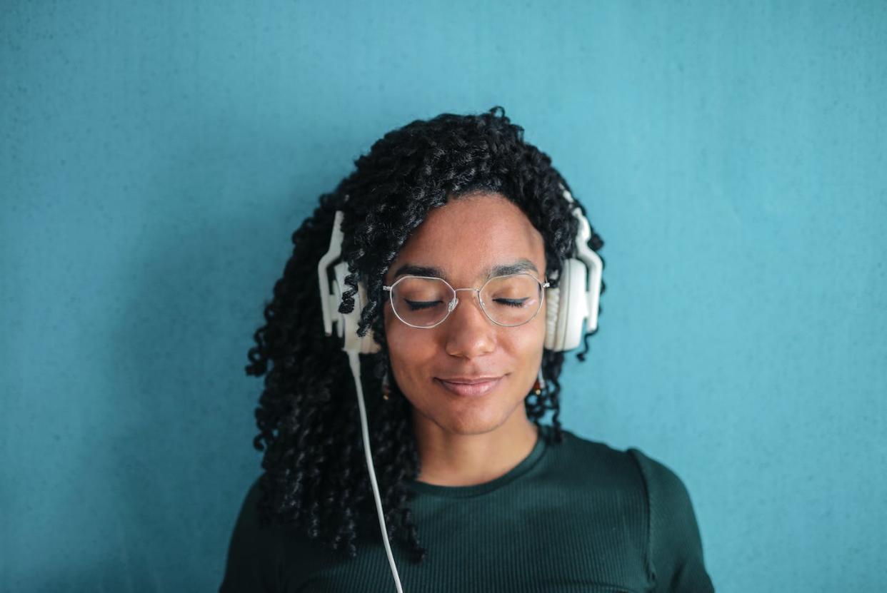
[[[388,277],[407,265],[436,268],[447,280],[470,283],[521,261],[545,273],[542,235],[513,202],[480,193],[450,199],[429,212],[397,254]]]

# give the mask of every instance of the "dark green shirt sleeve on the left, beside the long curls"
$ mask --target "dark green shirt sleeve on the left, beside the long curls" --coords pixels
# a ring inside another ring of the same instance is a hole
[[[219,593],[280,590],[279,528],[261,527],[256,509],[262,491],[258,480],[247,493],[228,546],[224,578]]]

